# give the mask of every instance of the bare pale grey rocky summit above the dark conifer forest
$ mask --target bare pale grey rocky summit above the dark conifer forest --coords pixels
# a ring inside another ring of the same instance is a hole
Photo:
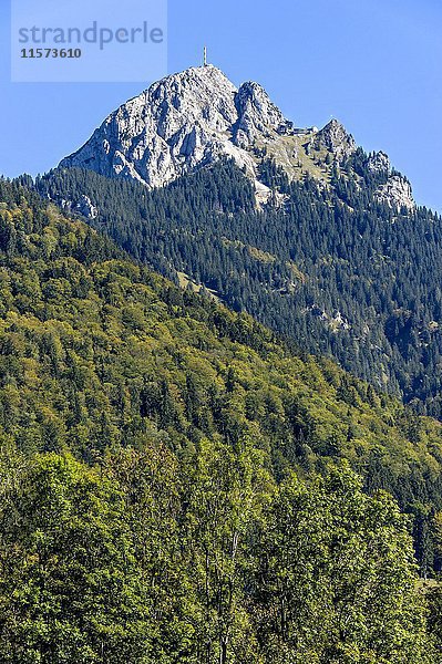
[[[356,147],[338,121],[319,132],[296,128],[258,83],[236,89],[219,69],[206,65],[166,76],[120,106],[60,167],[88,168],[162,187],[232,157],[254,180],[257,200],[263,203],[270,194],[259,177],[263,153],[290,177],[311,173],[327,181],[326,155],[342,163]],[[374,155],[369,168],[390,172],[383,157],[383,153]],[[398,175],[378,196],[393,206],[413,207],[411,189]]]

